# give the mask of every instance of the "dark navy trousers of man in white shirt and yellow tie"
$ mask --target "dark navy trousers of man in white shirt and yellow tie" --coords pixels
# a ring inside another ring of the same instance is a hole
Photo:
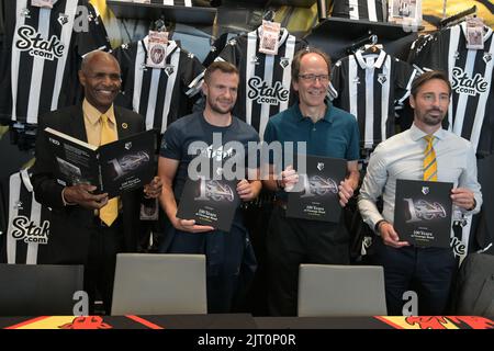
[[[452,250],[413,246],[395,249],[380,238],[375,245],[375,263],[384,268],[388,315],[403,314],[403,306],[409,301],[407,296],[404,299],[406,291],[417,293],[418,315],[442,315],[458,267]]]

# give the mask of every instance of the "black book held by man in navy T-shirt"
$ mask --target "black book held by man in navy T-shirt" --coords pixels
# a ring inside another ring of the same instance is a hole
[[[229,231],[240,199],[238,180],[188,179],[180,197],[177,217]]]

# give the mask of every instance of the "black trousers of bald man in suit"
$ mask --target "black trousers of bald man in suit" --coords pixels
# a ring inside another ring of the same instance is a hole
[[[116,253],[122,252],[124,247],[122,216],[110,227],[94,217],[89,231],[89,254],[85,264],[85,290],[89,295],[89,312],[94,312],[94,301],[100,296],[104,312],[109,315],[112,307]]]

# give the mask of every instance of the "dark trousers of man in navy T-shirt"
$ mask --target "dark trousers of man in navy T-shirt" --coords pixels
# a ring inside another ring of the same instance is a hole
[[[236,302],[240,284],[242,263],[248,235],[239,225],[229,233],[213,230],[191,234],[170,228],[171,241],[161,252],[203,253],[206,256],[207,313],[229,313]]]

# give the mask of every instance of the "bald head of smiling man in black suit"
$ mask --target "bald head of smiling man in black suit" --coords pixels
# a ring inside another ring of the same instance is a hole
[[[120,92],[119,61],[104,52],[85,56],[79,70],[79,81],[85,87],[85,98],[101,113],[105,113]]]

